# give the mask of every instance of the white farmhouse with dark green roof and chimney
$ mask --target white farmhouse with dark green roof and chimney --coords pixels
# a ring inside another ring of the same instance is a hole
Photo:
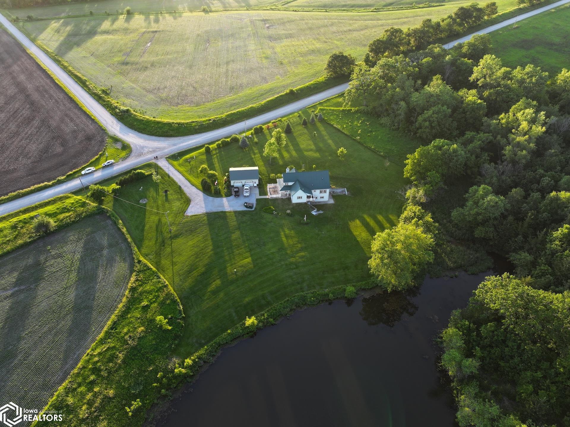
[[[291,196],[291,202],[325,202],[328,200],[331,180],[328,170],[310,170],[307,172],[297,172],[295,169],[283,174],[283,186],[280,192],[286,196]]]

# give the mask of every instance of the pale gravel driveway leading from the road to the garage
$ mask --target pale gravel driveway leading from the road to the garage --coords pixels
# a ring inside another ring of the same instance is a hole
[[[239,197],[211,197],[202,193],[201,190],[198,190],[195,186],[190,184],[190,182],[188,182],[188,180],[182,176],[178,170],[174,169],[165,158],[157,160],[156,164],[167,171],[170,177],[176,181],[188,197],[190,197],[190,206],[186,209],[186,215],[197,215],[207,212],[230,212],[233,210],[253,211],[255,209],[255,198],[259,196],[258,188],[251,187],[251,194],[248,197],[244,197],[243,195],[240,195]],[[240,194],[242,194],[242,190],[240,190]],[[244,202],[253,203],[254,209],[246,209],[245,206],[243,206]]]

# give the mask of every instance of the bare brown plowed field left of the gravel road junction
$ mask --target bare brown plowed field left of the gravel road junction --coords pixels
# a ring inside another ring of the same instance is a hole
[[[105,133],[5,30],[0,29],[0,196],[79,168]]]

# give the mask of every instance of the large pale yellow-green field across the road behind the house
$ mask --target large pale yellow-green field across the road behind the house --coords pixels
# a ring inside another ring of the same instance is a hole
[[[324,74],[333,51],[361,58],[385,28],[443,17],[458,4],[382,13],[94,16],[22,27],[127,107],[187,120],[247,107],[307,83]]]

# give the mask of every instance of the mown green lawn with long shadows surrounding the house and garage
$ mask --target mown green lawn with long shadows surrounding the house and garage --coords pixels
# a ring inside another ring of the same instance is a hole
[[[332,185],[347,187],[351,196],[335,197],[335,204],[324,205],[324,213],[316,217],[306,205],[275,199],[258,200],[254,212],[185,217],[188,197],[160,169],[162,182],[158,186],[147,177],[121,190],[119,197],[135,204],[148,198],[146,208],[169,211],[171,241],[164,214],[110,197],[105,200],[105,206],[122,219],[141,254],[181,299],[186,317],[178,356],[188,357],[246,315],[287,296],[368,279],[370,239],[397,222],[402,201],[395,192],[406,184],[401,165],[386,165],[384,158],[327,123],[303,128],[296,115],[291,121],[294,132],[271,165],[260,157],[262,142],[251,144],[246,151],[237,145],[216,149],[205,160],[211,168],[219,168],[218,172],[229,165],[257,164],[264,183],[268,173],[283,172],[289,164],[328,168]],[[388,139],[392,136],[386,131]],[[348,150],[345,160],[336,155],[339,147]],[[417,143],[398,147],[412,152]],[[162,193],[166,188],[168,197]],[[280,215],[264,213],[262,208],[268,205]],[[288,209],[293,217],[285,214]],[[311,223],[301,225],[306,214]]]

